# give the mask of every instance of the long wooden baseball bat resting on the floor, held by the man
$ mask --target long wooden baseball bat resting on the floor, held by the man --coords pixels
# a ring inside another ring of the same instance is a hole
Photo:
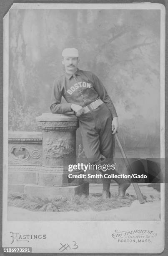
[[[129,163],[128,158],[127,158],[127,156],[126,156],[126,154],[124,152],[123,146],[120,143],[120,140],[118,138],[117,133],[115,133],[114,136],[115,136],[115,139],[116,139],[116,141],[118,143],[118,147],[120,148],[121,154],[123,156],[125,166],[126,166],[128,172],[133,174],[133,169],[130,166],[130,163]],[[142,193],[140,191],[140,188],[139,188],[138,184],[137,183],[133,183],[133,187],[135,189],[135,192],[136,192],[136,195],[138,197],[138,200],[139,200],[140,204],[143,204],[145,202],[145,200],[143,199],[143,195],[142,195]]]

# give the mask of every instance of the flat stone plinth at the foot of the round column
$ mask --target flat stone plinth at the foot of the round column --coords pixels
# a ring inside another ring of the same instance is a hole
[[[71,187],[43,187],[38,185],[25,185],[24,193],[36,197],[55,198],[57,195],[89,195],[89,182],[84,182],[79,186]]]

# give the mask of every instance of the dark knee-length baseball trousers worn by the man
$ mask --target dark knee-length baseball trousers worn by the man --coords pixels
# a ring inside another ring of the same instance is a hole
[[[90,164],[114,164],[112,115],[105,103],[78,117],[85,156]],[[103,157],[102,157],[103,156]],[[102,174],[115,171],[100,170]]]

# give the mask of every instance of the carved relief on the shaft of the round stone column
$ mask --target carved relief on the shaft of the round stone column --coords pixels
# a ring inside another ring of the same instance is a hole
[[[74,152],[74,141],[66,138],[58,140],[48,138],[43,147],[45,158],[63,158]]]

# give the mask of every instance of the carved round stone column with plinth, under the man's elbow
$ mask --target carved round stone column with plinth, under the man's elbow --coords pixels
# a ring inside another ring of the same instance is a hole
[[[44,113],[36,120],[43,131],[42,166],[39,170],[38,189],[37,186],[29,185],[25,187],[25,192],[45,197],[88,194],[88,182],[83,182],[82,178],[68,178],[68,174],[83,174],[78,170],[68,171],[69,164],[76,164],[78,119],[71,113]]]

